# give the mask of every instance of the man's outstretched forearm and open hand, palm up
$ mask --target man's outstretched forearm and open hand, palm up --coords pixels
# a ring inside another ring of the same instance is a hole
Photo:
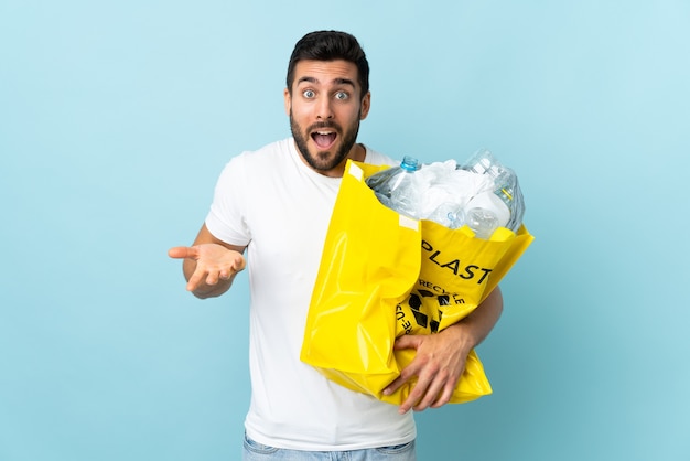
[[[246,266],[245,247],[228,245],[216,238],[204,224],[191,247],[174,247],[171,258],[183,259],[182,270],[187,290],[201,299],[225,293],[237,272]]]

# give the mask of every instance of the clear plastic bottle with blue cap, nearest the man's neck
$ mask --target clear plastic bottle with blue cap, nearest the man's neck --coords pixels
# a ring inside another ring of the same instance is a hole
[[[389,208],[418,218],[417,203],[423,193],[416,172],[421,168],[419,160],[406,156],[399,167],[391,167],[367,178],[366,183],[378,200]]]

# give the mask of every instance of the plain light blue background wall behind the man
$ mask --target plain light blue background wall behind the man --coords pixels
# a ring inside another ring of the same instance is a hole
[[[220,169],[289,136],[292,46],[371,63],[360,140],[487,147],[536,242],[479,347],[494,395],[421,460],[689,460],[688,1],[0,0],[0,459],[233,460],[247,280],[184,291]],[[276,223],[280,226],[280,223]]]

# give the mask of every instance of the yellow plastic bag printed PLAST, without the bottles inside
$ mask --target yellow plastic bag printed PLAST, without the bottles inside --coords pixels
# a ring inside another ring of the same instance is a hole
[[[414,382],[382,390],[414,358],[402,334],[431,334],[471,313],[532,242],[525,227],[489,240],[416,221],[382,205],[364,182],[387,167],[348,161],[324,244],[300,358],[349,389],[401,404]],[[490,394],[467,357],[451,403]]]

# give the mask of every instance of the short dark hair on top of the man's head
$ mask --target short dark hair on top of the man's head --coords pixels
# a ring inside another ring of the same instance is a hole
[[[353,35],[338,31],[317,31],[304,35],[294,45],[288,65],[288,90],[292,93],[294,67],[299,61],[344,60],[357,66],[357,79],[362,87],[362,97],[369,92],[369,62]]]

